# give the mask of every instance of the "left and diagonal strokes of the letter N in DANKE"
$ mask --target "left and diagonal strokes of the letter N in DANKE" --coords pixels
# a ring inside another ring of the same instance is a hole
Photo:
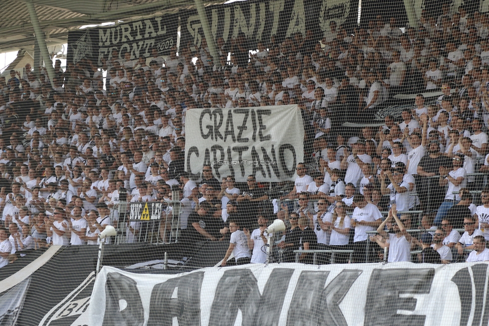
[[[241,324],[253,324],[260,298],[257,279],[250,269],[226,270],[215,289],[209,325],[234,325],[238,309],[242,314]]]

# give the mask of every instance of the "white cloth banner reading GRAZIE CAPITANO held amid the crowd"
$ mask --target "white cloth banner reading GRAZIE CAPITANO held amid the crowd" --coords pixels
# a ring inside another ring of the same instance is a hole
[[[246,182],[292,180],[304,158],[304,126],[297,105],[192,109],[186,112],[185,170],[199,179],[202,167],[214,175]]]

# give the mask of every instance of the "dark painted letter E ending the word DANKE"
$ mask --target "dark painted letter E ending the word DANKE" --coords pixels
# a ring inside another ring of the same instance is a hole
[[[417,302],[400,294],[428,294],[434,274],[434,268],[374,269],[368,282],[364,325],[424,325],[425,315],[397,313],[414,311]]]

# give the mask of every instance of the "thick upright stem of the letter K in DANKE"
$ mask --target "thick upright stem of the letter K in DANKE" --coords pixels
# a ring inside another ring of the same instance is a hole
[[[321,295],[329,271],[304,270],[299,276],[287,314],[287,326],[320,325]]]

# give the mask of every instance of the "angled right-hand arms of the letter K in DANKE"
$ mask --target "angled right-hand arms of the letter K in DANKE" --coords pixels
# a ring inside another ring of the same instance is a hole
[[[363,271],[343,269],[323,291],[320,307],[323,310],[323,322],[320,325],[348,326],[341,312],[340,303],[353,283]]]

